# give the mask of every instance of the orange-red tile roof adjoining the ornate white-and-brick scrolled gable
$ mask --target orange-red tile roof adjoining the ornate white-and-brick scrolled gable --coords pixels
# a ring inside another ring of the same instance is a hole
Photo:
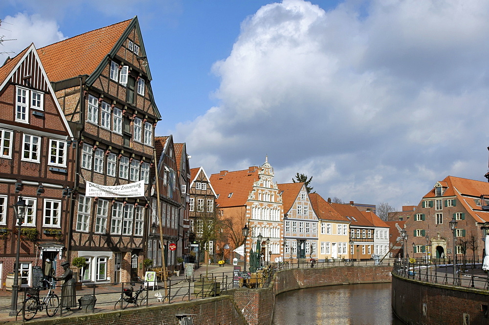
[[[216,203],[219,207],[243,206],[248,201],[248,196],[253,189],[253,183],[260,178],[260,167],[212,174],[210,183],[214,191],[219,195]],[[229,194],[233,193],[231,197]]]

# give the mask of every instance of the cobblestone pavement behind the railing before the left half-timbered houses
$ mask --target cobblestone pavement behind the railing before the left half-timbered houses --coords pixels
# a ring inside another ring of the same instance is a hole
[[[200,278],[200,275],[214,275],[217,277],[228,277],[228,284],[232,283],[232,272],[233,272],[233,265],[224,265],[224,266],[218,266],[218,265],[201,265],[200,268],[194,270],[194,279],[197,280]],[[129,287],[129,284],[125,284],[124,287]],[[109,285],[98,285],[96,287],[95,291],[95,296],[97,298],[97,304],[95,305],[94,313],[100,313],[104,311],[110,311],[114,310],[114,305],[115,303],[119,300],[120,294],[121,294],[121,284],[109,284]],[[139,284],[136,284],[134,286],[134,291],[139,288]],[[193,300],[196,299],[195,295],[193,295],[194,292],[194,283],[192,281],[185,281],[184,276],[180,274],[180,276],[172,276],[169,278],[167,282],[167,288],[168,288],[168,293],[172,297],[172,303],[174,302],[180,302],[180,301],[188,301],[188,300]],[[61,290],[56,289],[55,293],[60,297],[61,299]],[[190,295],[189,295],[190,292]],[[47,293],[47,290],[41,291],[41,296],[45,295]],[[148,306],[151,305],[159,305],[163,304],[163,302],[159,302],[155,294],[160,293],[161,295],[165,296],[165,287],[163,285],[163,282],[159,282],[158,286],[154,288],[150,286],[148,288]],[[85,286],[82,290],[77,290],[76,295],[77,299],[79,299],[81,296],[84,295],[92,295],[93,294],[93,289],[91,287]],[[0,322],[5,322],[5,321],[15,321],[15,317],[10,317],[9,311],[10,311],[10,303],[12,299],[12,291],[7,291],[7,290],[0,290]],[[17,303],[17,310],[22,309],[22,301],[24,299],[24,292],[21,291],[19,292],[19,297],[18,297],[18,303]],[[168,303],[168,302],[165,302]],[[115,307],[115,309],[120,308],[119,305]],[[128,308],[136,308],[135,305],[129,304]],[[91,313],[91,311],[88,311]],[[65,316],[71,316],[71,315],[83,315],[85,314],[85,310],[63,310],[63,317]],[[61,311],[58,311],[56,314],[56,317],[60,317]],[[46,316],[46,311],[45,309],[43,311],[38,311],[36,316],[34,317],[34,320],[36,319],[47,319]],[[22,321],[22,311],[20,312],[18,318],[18,321]]]

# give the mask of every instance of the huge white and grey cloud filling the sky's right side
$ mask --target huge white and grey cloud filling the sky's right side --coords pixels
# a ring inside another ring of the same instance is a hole
[[[306,173],[344,201],[400,208],[448,173],[482,180],[488,14],[487,1],[268,4],[214,64],[219,107],[175,134],[196,160],[212,152],[207,169],[267,153],[279,182]]]

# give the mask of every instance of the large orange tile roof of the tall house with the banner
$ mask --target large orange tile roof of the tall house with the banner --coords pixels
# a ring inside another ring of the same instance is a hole
[[[79,75],[91,75],[111,52],[133,19],[38,49],[49,80],[61,81]]]

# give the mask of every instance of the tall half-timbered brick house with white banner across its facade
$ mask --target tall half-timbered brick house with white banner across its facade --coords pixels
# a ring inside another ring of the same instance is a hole
[[[87,181],[122,185],[144,180],[149,194],[160,114],[137,17],[45,46],[38,54],[77,137],[68,259],[85,257],[82,281],[141,276],[147,201],[85,196]]]

